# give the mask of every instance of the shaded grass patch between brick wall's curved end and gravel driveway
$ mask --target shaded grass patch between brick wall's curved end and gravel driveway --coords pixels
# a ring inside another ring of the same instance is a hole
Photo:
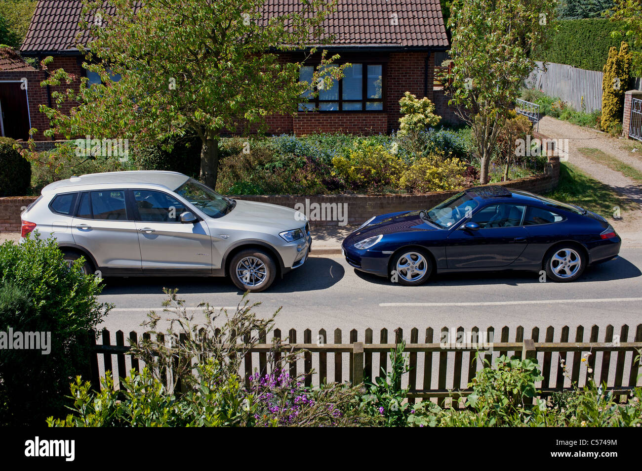
[[[614,207],[621,211],[634,209],[636,204],[619,195],[609,185],[592,179],[582,173],[576,166],[560,163],[560,180],[557,188],[544,195],[561,202],[577,204],[589,211],[611,218]]]

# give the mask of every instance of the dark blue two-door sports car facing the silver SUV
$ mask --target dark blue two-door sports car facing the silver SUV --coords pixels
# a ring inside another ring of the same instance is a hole
[[[616,258],[621,238],[600,215],[503,188],[462,191],[432,209],[375,216],[347,236],[352,267],[419,285],[433,272],[546,270],[573,281]]]

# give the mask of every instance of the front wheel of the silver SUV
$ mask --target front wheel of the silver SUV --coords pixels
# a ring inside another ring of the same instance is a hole
[[[259,292],[268,289],[276,277],[272,256],[255,249],[240,251],[230,262],[230,278],[239,290]]]

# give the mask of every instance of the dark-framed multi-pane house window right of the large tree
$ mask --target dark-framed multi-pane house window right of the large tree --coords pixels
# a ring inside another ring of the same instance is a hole
[[[332,67],[332,66],[330,66]],[[311,84],[314,66],[303,66],[299,80]],[[311,97],[311,90],[302,94],[308,102],[299,103],[299,111],[382,111],[383,110],[383,66],[381,64],[352,64],[343,69],[343,78],[325,80],[317,87],[318,97]]]

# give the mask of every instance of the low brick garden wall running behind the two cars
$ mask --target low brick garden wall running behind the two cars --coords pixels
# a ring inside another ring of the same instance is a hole
[[[541,194],[557,187],[559,174],[559,157],[550,157],[544,173],[498,185]],[[243,195],[235,198],[280,204],[299,210],[309,209],[309,212],[306,211],[308,216],[314,216],[314,211],[317,211],[317,217],[321,220],[311,220],[313,226],[355,226],[377,214],[431,208],[459,191],[461,190],[433,191],[423,195]],[[20,213],[35,199],[36,197],[0,198],[0,232],[20,231]]]

